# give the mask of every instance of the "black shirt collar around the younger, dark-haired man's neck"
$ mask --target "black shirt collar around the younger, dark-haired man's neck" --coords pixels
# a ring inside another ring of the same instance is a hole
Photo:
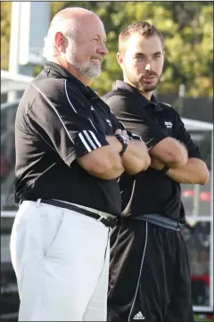
[[[122,80],[116,80],[116,89],[122,89],[125,91],[128,91],[129,93],[132,93],[134,95],[137,95],[138,99],[142,102],[144,106],[151,107],[154,111],[161,111],[161,105],[158,103],[157,99],[154,95],[152,95],[151,100],[147,100],[147,98],[144,97],[144,95],[140,94],[140,92],[136,89],[136,87],[132,87],[128,83],[125,83]]]

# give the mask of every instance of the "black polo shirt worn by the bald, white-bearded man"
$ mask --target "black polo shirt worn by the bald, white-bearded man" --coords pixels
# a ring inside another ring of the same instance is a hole
[[[121,128],[110,108],[90,88],[47,62],[21,98],[15,121],[15,199],[59,199],[116,216],[117,180],[95,178],[76,159],[108,145]]]

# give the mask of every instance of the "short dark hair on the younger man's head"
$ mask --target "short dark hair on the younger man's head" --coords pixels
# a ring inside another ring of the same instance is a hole
[[[152,26],[147,21],[136,21],[128,26],[128,28],[124,29],[119,34],[119,53],[125,53],[126,52],[126,43],[129,39],[129,37],[132,34],[140,34],[143,37],[152,37],[152,36],[158,36],[161,39],[162,47],[164,47],[164,37],[159,29]]]

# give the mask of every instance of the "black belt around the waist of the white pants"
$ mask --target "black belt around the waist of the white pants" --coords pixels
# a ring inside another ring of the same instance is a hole
[[[32,199],[30,201],[31,202],[37,202],[37,200],[32,200]],[[21,200],[21,202],[24,202],[24,200]],[[74,204],[65,203],[65,202],[59,202],[59,201],[53,200],[53,199],[41,199],[40,202],[46,203],[46,204],[49,204],[49,205],[55,206],[55,207],[69,209],[70,211],[77,211],[78,213],[81,213],[82,215],[85,215],[85,216],[94,218],[96,220],[99,220],[106,227],[115,227],[119,223],[119,218],[118,217],[115,217],[115,218],[112,218],[112,217],[103,218],[102,216],[100,216],[100,215],[98,215],[98,214],[96,214],[94,212],[87,211],[86,209],[80,208],[78,206],[75,206]]]

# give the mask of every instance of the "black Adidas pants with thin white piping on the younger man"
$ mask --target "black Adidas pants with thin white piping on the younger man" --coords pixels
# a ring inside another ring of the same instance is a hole
[[[179,231],[125,219],[111,232],[108,321],[193,322],[191,282]]]

